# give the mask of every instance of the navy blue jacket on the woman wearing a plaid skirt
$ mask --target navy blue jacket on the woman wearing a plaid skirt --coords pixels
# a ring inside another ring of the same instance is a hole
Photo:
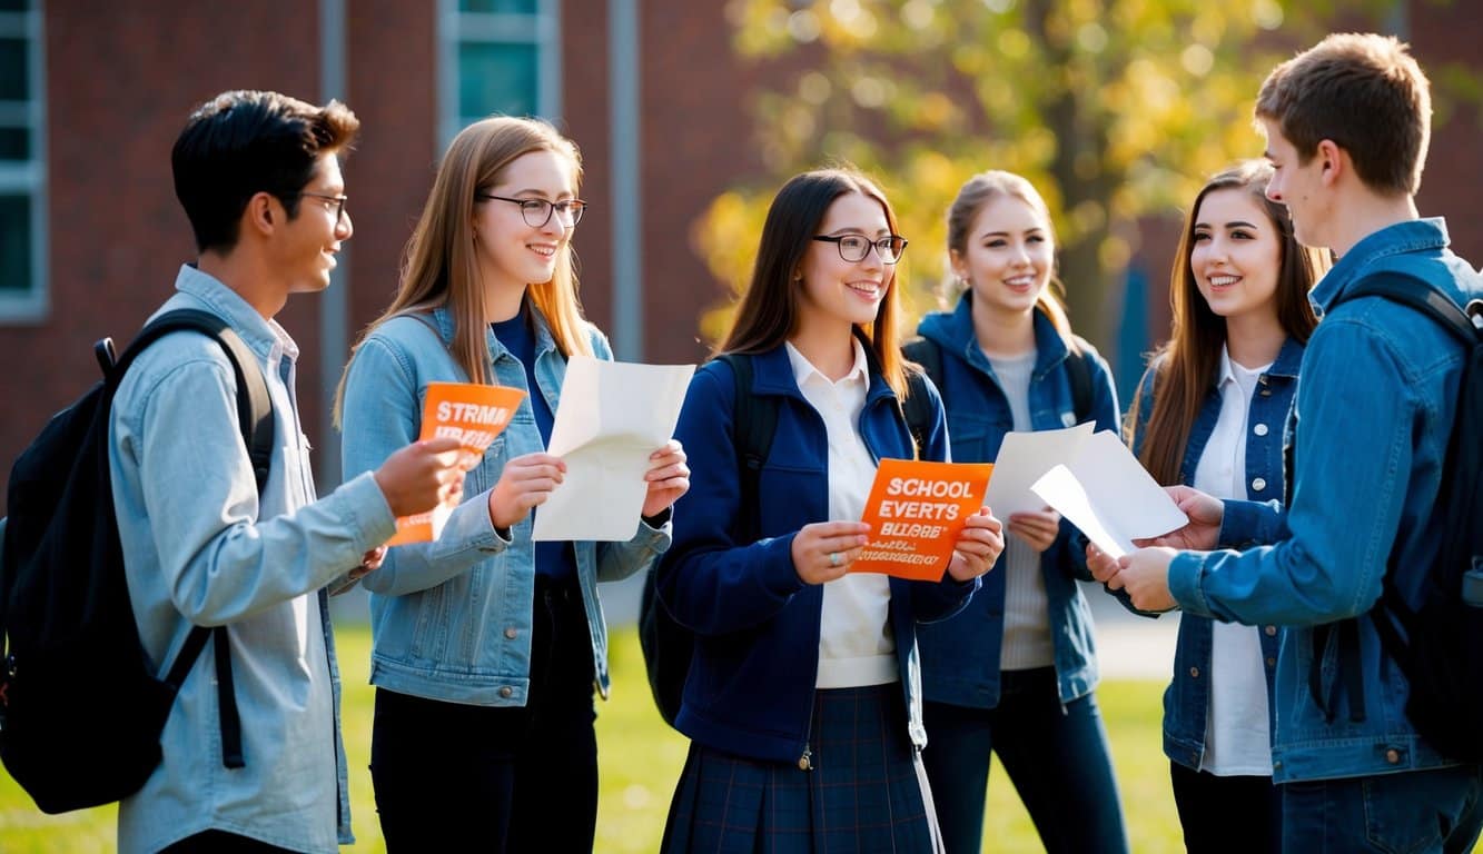
[[[823,586],[793,568],[798,529],[829,519],[829,448],[823,418],[798,390],[780,345],[752,357],[752,390],[777,399],[777,430],[758,477],[759,507],[740,506],[733,440],[736,375],[725,362],[696,372],[676,434],[694,471],[675,507],[675,546],[660,560],[658,593],[670,614],[696,632],[676,728],[707,747],[761,761],[802,756],[819,675]],[[936,408],[936,388],[931,388]],[[912,458],[912,436],[896,396],[873,368],[860,412],[860,437],[876,460]],[[945,460],[942,417],[925,437],[922,460]],[[756,512],[756,526],[743,513]],[[761,531],[756,543],[742,531]],[[890,620],[916,746],[927,743],[921,716],[916,621],[952,614],[979,580],[940,583],[891,578]]]

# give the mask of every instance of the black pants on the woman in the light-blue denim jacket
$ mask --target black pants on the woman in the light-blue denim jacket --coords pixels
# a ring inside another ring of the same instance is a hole
[[[377,689],[371,780],[387,851],[592,851],[598,738],[575,581],[537,580],[532,626],[523,707]]]

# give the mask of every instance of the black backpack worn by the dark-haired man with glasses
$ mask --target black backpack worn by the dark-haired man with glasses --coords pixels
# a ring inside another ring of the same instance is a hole
[[[16,458],[0,560],[0,759],[44,812],[126,798],[160,764],[175,694],[215,638],[222,764],[240,768],[225,627],[191,629],[166,679],[156,676],[133,623],[108,470],[113,396],[133,359],[168,332],[194,329],[227,351],[237,417],[258,492],[273,451],[273,406],[258,360],[215,314],[169,311],[114,362],[93,345],[104,378],[58,412]]]

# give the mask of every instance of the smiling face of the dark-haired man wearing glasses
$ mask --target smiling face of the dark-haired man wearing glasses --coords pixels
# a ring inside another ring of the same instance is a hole
[[[288,279],[289,294],[314,294],[329,288],[335,254],[354,233],[354,227],[349,211],[337,216],[338,202],[322,196],[343,196],[344,191],[340,159],[323,154],[314,166],[314,176],[301,191],[298,215],[288,221],[283,239],[274,248],[274,264]]]

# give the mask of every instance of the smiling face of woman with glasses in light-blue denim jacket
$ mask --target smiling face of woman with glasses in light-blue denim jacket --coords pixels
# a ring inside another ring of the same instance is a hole
[[[555,151],[521,154],[504,169],[498,184],[479,193],[510,199],[575,199],[572,165]],[[571,240],[574,225],[552,215],[543,225],[525,222],[521,206],[500,199],[479,200],[473,211],[475,245],[485,288],[523,292],[526,285],[550,282],[558,255]]]

